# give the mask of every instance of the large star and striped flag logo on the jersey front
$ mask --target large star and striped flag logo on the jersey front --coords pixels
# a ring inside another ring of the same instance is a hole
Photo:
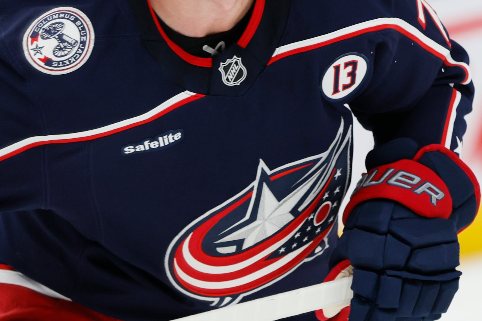
[[[327,235],[336,233],[350,147],[351,128],[342,120],[322,154],[275,169],[260,159],[252,184],[174,238],[165,257],[174,287],[221,307],[321,255]]]

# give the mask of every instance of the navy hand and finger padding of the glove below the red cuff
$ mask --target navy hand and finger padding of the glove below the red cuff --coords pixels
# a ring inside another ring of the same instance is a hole
[[[362,203],[335,252],[343,250],[356,267],[350,321],[436,320],[458,288],[457,232],[448,219],[424,218],[389,200]]]

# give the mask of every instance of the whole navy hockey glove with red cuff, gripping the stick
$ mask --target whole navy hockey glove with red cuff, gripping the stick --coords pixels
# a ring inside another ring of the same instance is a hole
[[[354,267],[349,321],[437,320],[458,289],[457,232],[475,218],[479,185],[441,145],[417,149],[400,139],[370,152],[345,210],[331,262]]]

